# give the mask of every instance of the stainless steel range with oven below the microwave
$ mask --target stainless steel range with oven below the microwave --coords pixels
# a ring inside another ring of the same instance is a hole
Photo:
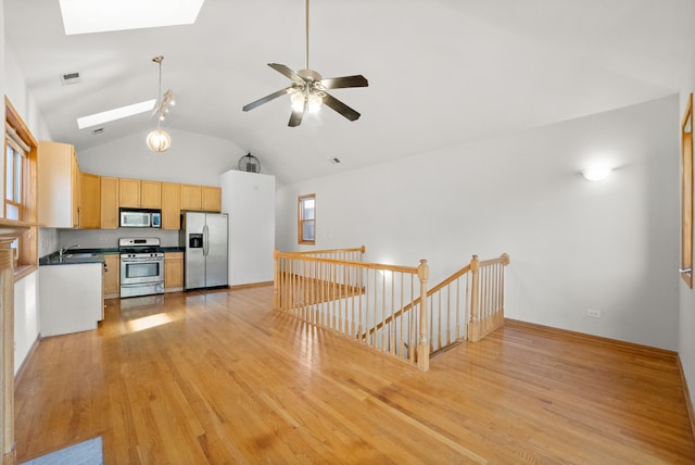
[[[121,238],[121,297],[164,293],[164,252],[159,238]]]

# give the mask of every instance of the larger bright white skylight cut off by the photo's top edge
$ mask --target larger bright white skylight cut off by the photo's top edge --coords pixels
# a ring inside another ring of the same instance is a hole
[[[193,24],[204,0],[60,0],[66,35]]]

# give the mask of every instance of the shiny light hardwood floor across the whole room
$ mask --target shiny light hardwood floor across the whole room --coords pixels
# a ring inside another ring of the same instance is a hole
[[[671,353],[507,324],[420,373],[271,299],[113,300],[97,331],[42,340],[20,462],[99,435],[106,464],[695,462]]]

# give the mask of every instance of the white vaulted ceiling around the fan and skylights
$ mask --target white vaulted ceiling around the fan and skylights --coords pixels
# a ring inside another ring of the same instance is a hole
[[[303,0],[205,0],[191,26],[78,36],[58,0],[4,0],[4,14],[53,139],[79,152],[154,125],[92,136],[76,118],[157,97],[162,54],[165,126],[228,139],[285,181],[672,95],[695,46],[693,0],[314,0],[311,67],[369,87],[331,91],[358,121],[323,109],[290,128],[289,97],[241,108],[288,86],[267,63],[304,67]],[[71,72],[81,83],[62,86]]]

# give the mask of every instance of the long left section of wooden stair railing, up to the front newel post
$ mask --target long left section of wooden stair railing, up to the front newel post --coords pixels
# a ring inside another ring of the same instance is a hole
[[[354,250],[364,253],[364,247],[343,251]],[[427,294],[427,261],[399,266],[320,256],[336,256],[332,252],[276,250],[275,309],[429,369],[427,300],[419,303],[419,297]],[[364,337],[415,300],[418,304],[412,305],[406,318]]]

